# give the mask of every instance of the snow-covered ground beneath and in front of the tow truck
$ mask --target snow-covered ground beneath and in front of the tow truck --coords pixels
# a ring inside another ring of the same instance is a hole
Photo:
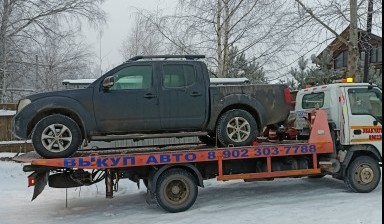
[[[1,154],[11,156],[12,154]],[[105,199],[103,183],[68,190],[46,187],[33,202],[22,165],[0,161],[0,223],[382,223],[382,183],[369,194],[351,193],[343,182],[280,179],[271,182],[205,182],[195,205],[170,214],[145,202],[145,187],[121,180]]]

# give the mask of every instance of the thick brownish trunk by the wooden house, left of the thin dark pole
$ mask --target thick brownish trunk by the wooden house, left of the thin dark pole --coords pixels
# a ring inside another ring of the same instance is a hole
[[[348,66],[347,77],[361,82],[358,75],[359,68],[359,32],[357,27],[357,0],[350,0],[351,24],[349,26]]]

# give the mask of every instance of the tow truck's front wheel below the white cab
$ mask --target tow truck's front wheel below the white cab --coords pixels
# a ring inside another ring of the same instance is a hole
[[[369,156],[358,156],[348,166],[345,183],[354,192],[369,193],[377,187],[380,178],[379,163]]]

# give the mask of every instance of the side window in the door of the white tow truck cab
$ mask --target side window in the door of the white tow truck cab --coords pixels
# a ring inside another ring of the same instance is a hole
[[[375,89],[349,89],[348,97],[352,115],[369,114],[382,118],[382,96]]]

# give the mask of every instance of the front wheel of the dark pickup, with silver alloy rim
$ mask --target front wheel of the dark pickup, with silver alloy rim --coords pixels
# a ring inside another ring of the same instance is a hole
[[[35,151],[44,158],[65,158],[81,146],[80,127],[64,115],[50,115],[40,120],[32,131]]]

